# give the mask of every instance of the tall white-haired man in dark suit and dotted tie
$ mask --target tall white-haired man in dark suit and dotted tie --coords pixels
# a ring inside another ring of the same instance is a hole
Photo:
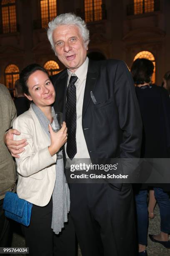
[[[88,59],[89,31],[74,14],[57,16],[49,23],[47,34],[67,68],[52,77],[54,108],[63,112],[68,128],[66,164],[80,158],[93,163],[93,159],[139,157],[142,124],[126,64]],[[70,200],[83,256],[136,255],[130,184],[70,184]]]

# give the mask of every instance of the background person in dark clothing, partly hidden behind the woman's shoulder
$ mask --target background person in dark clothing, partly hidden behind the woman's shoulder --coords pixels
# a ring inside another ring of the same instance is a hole
[[[15,95],[16,98],[14,100],[15,107],[17,109],[17,116],[23,114],[30,107],[30,103],[28,99],[24,96],[22,91],[22,87],[19,79],[15,82]]]

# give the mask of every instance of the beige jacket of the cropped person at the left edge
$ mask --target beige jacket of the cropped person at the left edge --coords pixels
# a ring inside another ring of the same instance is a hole
[[[13,157],[4,143],[4,133],[13,125],[17,117],[13,99],[7,87],[0,84],[0,200],[12,187],[15,176],[15,164]]]

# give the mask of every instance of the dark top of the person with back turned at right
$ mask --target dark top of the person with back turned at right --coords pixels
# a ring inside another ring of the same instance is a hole
[[[169,158],[170,98],[168,92],[162,87],[152,85],[136,87],[136,93],[143,120],[141,158]],[[143,189],[145,185],[143,184]],[[170,190],[169,184],[153,184],[153,186]]]

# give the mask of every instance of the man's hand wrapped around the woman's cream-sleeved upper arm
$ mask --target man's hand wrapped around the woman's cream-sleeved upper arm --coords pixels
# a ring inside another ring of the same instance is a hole
[[[16,129],[10,129],[5,133],[4,135],[4,142],[10,151],[11,155],[15,158],[19,158],[18,154],[22,153],[25,150],[25,146],[28,145],[26,142],[26,139],[23,139],[21,141],[14,141],[14,134],[15,135],[20,135],[20,132],[17,131]]]

